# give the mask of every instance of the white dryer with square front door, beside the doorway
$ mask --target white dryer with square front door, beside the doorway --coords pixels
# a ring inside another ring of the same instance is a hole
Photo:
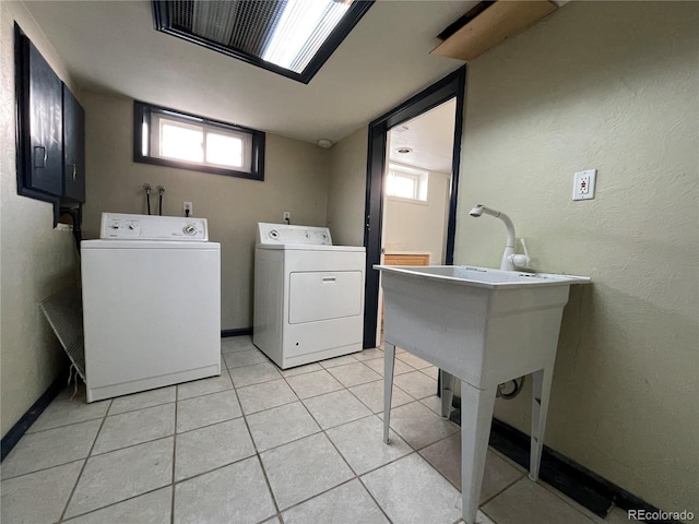
[[[327,227],[259,224],[254,345],[282,369],[360,352],[365,263]]]

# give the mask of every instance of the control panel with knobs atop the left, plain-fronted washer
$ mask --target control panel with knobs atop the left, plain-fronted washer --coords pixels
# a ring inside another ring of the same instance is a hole
[[[103,213],[99,238],[134,240],[209,240],[206,218]]]

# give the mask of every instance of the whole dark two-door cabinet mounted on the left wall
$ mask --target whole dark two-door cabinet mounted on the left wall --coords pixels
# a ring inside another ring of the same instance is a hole
[[[85,116],[19,25],[15,37],[17,192],[61,205],[85,201]]]

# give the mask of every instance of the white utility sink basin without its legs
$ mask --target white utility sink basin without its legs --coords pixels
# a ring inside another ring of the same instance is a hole
[[[541,369],[555,355],[570,285],[590,282],[474,266],[375,269],[386,340],[476,388]]]

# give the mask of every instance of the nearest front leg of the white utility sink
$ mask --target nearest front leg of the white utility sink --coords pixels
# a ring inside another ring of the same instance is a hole
[[[476,522],[496,391],[461,381],[461,511],[466,524]]]

